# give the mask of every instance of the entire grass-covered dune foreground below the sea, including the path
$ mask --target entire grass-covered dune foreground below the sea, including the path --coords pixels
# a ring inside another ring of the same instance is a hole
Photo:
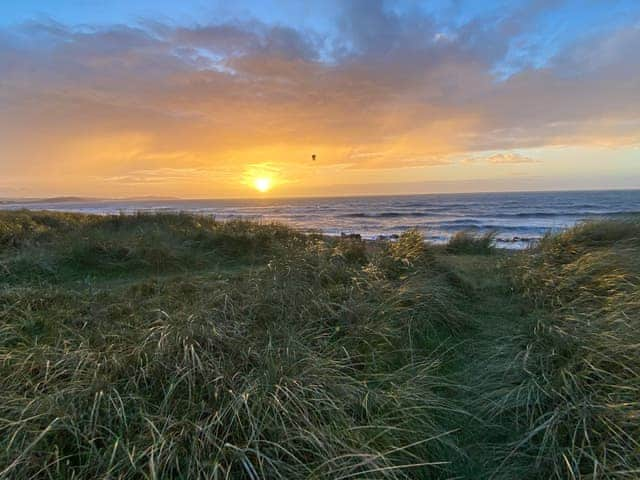
[[[0,478],[637,478],[639,238],[0,213]]]

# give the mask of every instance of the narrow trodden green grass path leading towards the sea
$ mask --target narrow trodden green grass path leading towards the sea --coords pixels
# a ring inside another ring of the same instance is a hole
[[[505,364],[513,361],[515,339],[527,321],[524,302],[510,288],[504,259],[474,255],[444,261],[472,292],[459,308],[470,317],[473,328],[449,350],[448,374],[459,388],[448,395],[469,413],[452,419],[463,454],[454,464],[454,478],[519,478],[499,468],[512,451],[518,428],[496,418],[491,406],[509,386]]]

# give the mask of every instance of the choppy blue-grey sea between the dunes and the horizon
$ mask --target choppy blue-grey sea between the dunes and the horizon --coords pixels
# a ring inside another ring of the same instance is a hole
[[[524,248],[547,232],[589,219],[640,213],[640,190],[462,193],[336,198],[246,200],[56,198],[3,200],[3,209],[93,214],[192,212],[219,220],[282,222],[326,235],[359,234],[394,239],[418,229],[431,242],[446,242],[458,231],[496,233],[503,248]]]

